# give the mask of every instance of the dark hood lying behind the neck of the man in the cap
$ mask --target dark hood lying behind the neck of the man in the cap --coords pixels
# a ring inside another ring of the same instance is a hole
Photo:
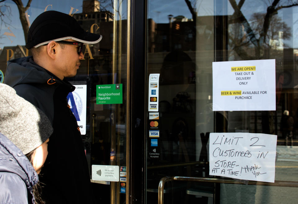
[[[21,57],[7,62],[4,83],[11,87],[19,84],[47,84],[51,77],[49,72],[33,61],[32,56]]]

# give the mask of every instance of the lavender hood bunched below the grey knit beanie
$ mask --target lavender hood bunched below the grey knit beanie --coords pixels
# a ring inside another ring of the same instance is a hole
[[[0,133],[0,172],[14,173],[31,188],[38,182],[38,175],[23,152]]]

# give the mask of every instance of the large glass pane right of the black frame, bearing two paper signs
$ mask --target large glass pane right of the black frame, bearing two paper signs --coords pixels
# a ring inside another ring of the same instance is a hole
[[[160,76],[158,111],[149,107],[147,115],[147,203],[157,202],[159,181],[166,176],[224,178],[209,169],[214,133],[254,135],[251,138],[259,141],[267,137],[261,134],[271,135],[267,141],[277,139],[272,152],[275,173],[267,172],[268,179],[275,184],[297,181],[297,9],[293,1],[148,1],[149,99],[153,97],[149,74]],[[256,67],[244,71],[251,63]],[[233,72],[233,67],[240,70]],[[264,73],[258,75],[261,70]],[[153,120],[150,116],[157,113],[159,118]],[[152,121],[158,122],[157,128]],[[159,131],[159,137],[153,138],[151,130]],[[256,173],[255,178],[264,172]],[[233,176],[244,183],[254,180]],[[296,190],[170,181],[164,203],[291,203]]]

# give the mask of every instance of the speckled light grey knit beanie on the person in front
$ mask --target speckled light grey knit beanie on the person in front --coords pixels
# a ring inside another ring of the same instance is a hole
[[[40,109],[0,84],[0,132],[28,154],[50,137],[53,128]]]

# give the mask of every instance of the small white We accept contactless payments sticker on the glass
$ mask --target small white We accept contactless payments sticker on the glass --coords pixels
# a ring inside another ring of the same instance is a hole
[[[119,166],[92,165],[92,180],[119,181]]]

